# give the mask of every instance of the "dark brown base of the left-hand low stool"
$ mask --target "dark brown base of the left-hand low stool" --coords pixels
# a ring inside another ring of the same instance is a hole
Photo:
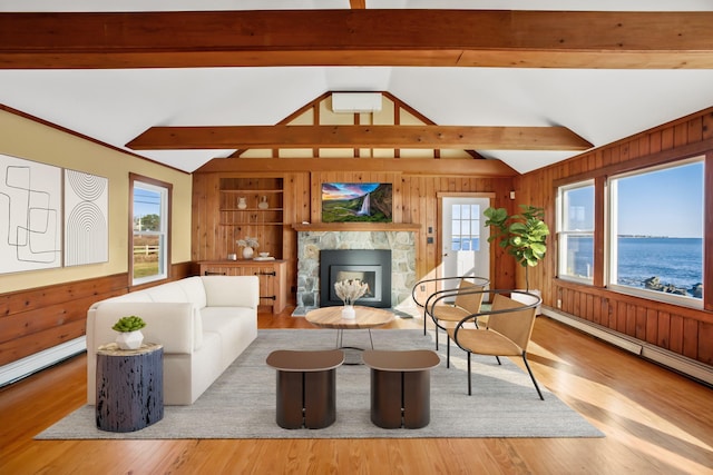
[[[335,370],[277,372],[277,425],[324,428],[336,419]]]

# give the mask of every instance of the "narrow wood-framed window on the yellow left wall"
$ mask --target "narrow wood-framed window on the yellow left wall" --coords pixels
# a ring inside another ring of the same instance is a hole
[[[131,175],[131,285],[168,277],[169,184]]]

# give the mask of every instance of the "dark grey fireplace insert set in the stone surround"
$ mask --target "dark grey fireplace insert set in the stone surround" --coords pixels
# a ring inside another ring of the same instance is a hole
[[[356,304],[391,307],[391,250],[324,249],[320,253],[320,306],[343,305],[334,291],[341,280],[359,279],[369,291]]]

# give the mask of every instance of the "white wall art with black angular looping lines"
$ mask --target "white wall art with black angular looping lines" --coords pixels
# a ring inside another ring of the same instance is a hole
[[[0,273],[61,266],[61,168],[0,154]]]

